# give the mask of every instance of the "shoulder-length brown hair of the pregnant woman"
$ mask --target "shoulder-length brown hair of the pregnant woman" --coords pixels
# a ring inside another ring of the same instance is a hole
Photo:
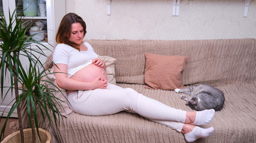
[[[71,35],[71,27],[72,27],[73,23],[80,23],[83,26],[84,36],[85,36],[86,24],[83,21],[83,19],[75,13],[68,13],[62,18],[62,20],[59,24],[59,28],[58,28],[58,31],[56,34],[56,42],[59,44],[60,43],[68,44],[80,51],[79,45],[77,45],[73,42],[70,42],[69,38],[68,38]]]

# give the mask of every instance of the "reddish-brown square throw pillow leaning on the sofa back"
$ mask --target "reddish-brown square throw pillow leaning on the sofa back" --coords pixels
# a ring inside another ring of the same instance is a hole
[[[145,53],[144,88],[174,90],[185,88],[182,85],[181,71],[184,70],[189,57],[164,56]]]

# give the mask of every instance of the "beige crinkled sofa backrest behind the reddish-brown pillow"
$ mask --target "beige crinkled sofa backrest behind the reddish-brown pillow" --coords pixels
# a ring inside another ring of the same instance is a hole
[[[183,85],[255,83],[256,39],[86,40],[101,56],[117,59],[117,83],[144,84],[145,53],[189,56]]]

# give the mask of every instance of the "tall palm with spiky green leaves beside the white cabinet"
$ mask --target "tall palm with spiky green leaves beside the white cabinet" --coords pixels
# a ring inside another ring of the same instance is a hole
[[[39,61],[39,57],[35,56],[33,53],[37,53],[40,56],[46,56],[40,47],[47,48],[43,43],[32,39],[32,36],[25,36],[26,29],[29,28],[31,21],[25,21],[24,17],[15,14],[16,9],[11,14],[9,11],[9,24],[6,22],[6,17],[1,15],[0,21],[0,85],[1,85],[1,96],[5,99],[9,96],[14,89],[15,102],[11,106],[11,110],[6,117],[4,126],[1,131],[0,139],[3,139],[5,127],[7,120],[10,118],[13,111],[17,108],[18,113],[18,123],[20,129],[21,142],[24,142],[24,134],[22,122],[26,119],[21,117],[21,110],[26,110],[28,115],[29,123],[32,130],[33,142],[35,142],[35,136],[39,136],[39,125],[37,118],[42,116],[43,119],[48,119],[51,124],[50,115],[53,114],[55,125],[59,124],[60,112],[57,106],[61,106],[54,95],[53,92],[59,92],[56,89],[49,89],[47,84],[53,84],[49,80],[45,80],[47,77],[46,69],[44,69],[44,63]],[[22,27],[22,25],[25,25]],[[31,45],[37,47],[31,48]],[[49,48],[47,48],[50,50]],[[29,65],[23,66],[19,57],[26,57],[29,61]],[[9,74],[10,73],[10,76]],[[10,79],[11,86],[4,87],[4,80]],[[55,86],[56,87],[56,86]],[[7,88],[7,92],[3,93],[3,89]],[[56,87],[58,89],[58,87]],[[21,108],[21,104],[26,107]],[[57,102],[57,103],[56,103]],[[40,111],[37,114],[36,111]],[[55,114],[56,113],[56,114]],[[2,121],[2,116],[0,121]],[[61,117],[62,118],[62,117]]]

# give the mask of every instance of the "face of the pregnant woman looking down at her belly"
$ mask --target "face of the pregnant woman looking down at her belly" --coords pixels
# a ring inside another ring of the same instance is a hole
[[[79,45],[83,41],[84,36],[84,28],[80,23],[73,23],[71,25],[71,34],[69,37],[69,41]]]

